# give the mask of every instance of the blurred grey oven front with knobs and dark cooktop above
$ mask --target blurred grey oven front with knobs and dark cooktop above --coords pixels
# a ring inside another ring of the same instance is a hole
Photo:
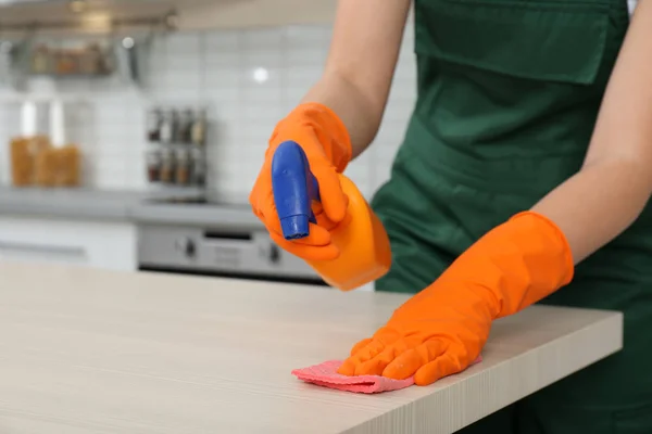
[[[153,197],[162,205],[213,205],[251,214],[249,204],[216,194]],[[325,285],[302,259],[281,250],[263,227],[242,230],[220,224],[218,230],[190,225],[148,222],[138,227],[138,263],[143,271],[190,273]]]

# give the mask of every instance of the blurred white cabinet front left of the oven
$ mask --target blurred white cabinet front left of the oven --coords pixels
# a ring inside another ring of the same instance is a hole
[[[128,221],[0,217],[0,260],[136,270]]]

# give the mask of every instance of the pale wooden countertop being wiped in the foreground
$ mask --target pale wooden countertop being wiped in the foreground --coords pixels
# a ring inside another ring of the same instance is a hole
[[[622,315],[532,307],[485,360],[358,395],[290,371],[344,357],[405,296],[0,264],[0,432],[448,434],[622,347]]]

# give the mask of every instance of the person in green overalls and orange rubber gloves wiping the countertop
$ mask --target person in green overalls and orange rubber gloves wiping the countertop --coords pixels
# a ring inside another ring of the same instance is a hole
[[[272,237],[333,258],[336,173],[372,142],[410,0],[341,0],[327,65],[276,127],[250,201]],[[373,207],[417,293],[344,374],[466,369],[493,319],[532,303],[625,312],[625,349],[464,433],[652,433],[652,1],[415,0],[418,99]],[[299,142],[319,181],[311,235],[285,241],[271,156]],[[421,292],[419,292],[421,291]]]

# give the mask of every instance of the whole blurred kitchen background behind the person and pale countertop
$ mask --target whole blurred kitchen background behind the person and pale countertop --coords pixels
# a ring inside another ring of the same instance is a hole
[[[0,0],[0,258],[313,279],[252,218],[267,139],[319,77],[336,0]],[[383,127],[415,101],[411,25]]]

